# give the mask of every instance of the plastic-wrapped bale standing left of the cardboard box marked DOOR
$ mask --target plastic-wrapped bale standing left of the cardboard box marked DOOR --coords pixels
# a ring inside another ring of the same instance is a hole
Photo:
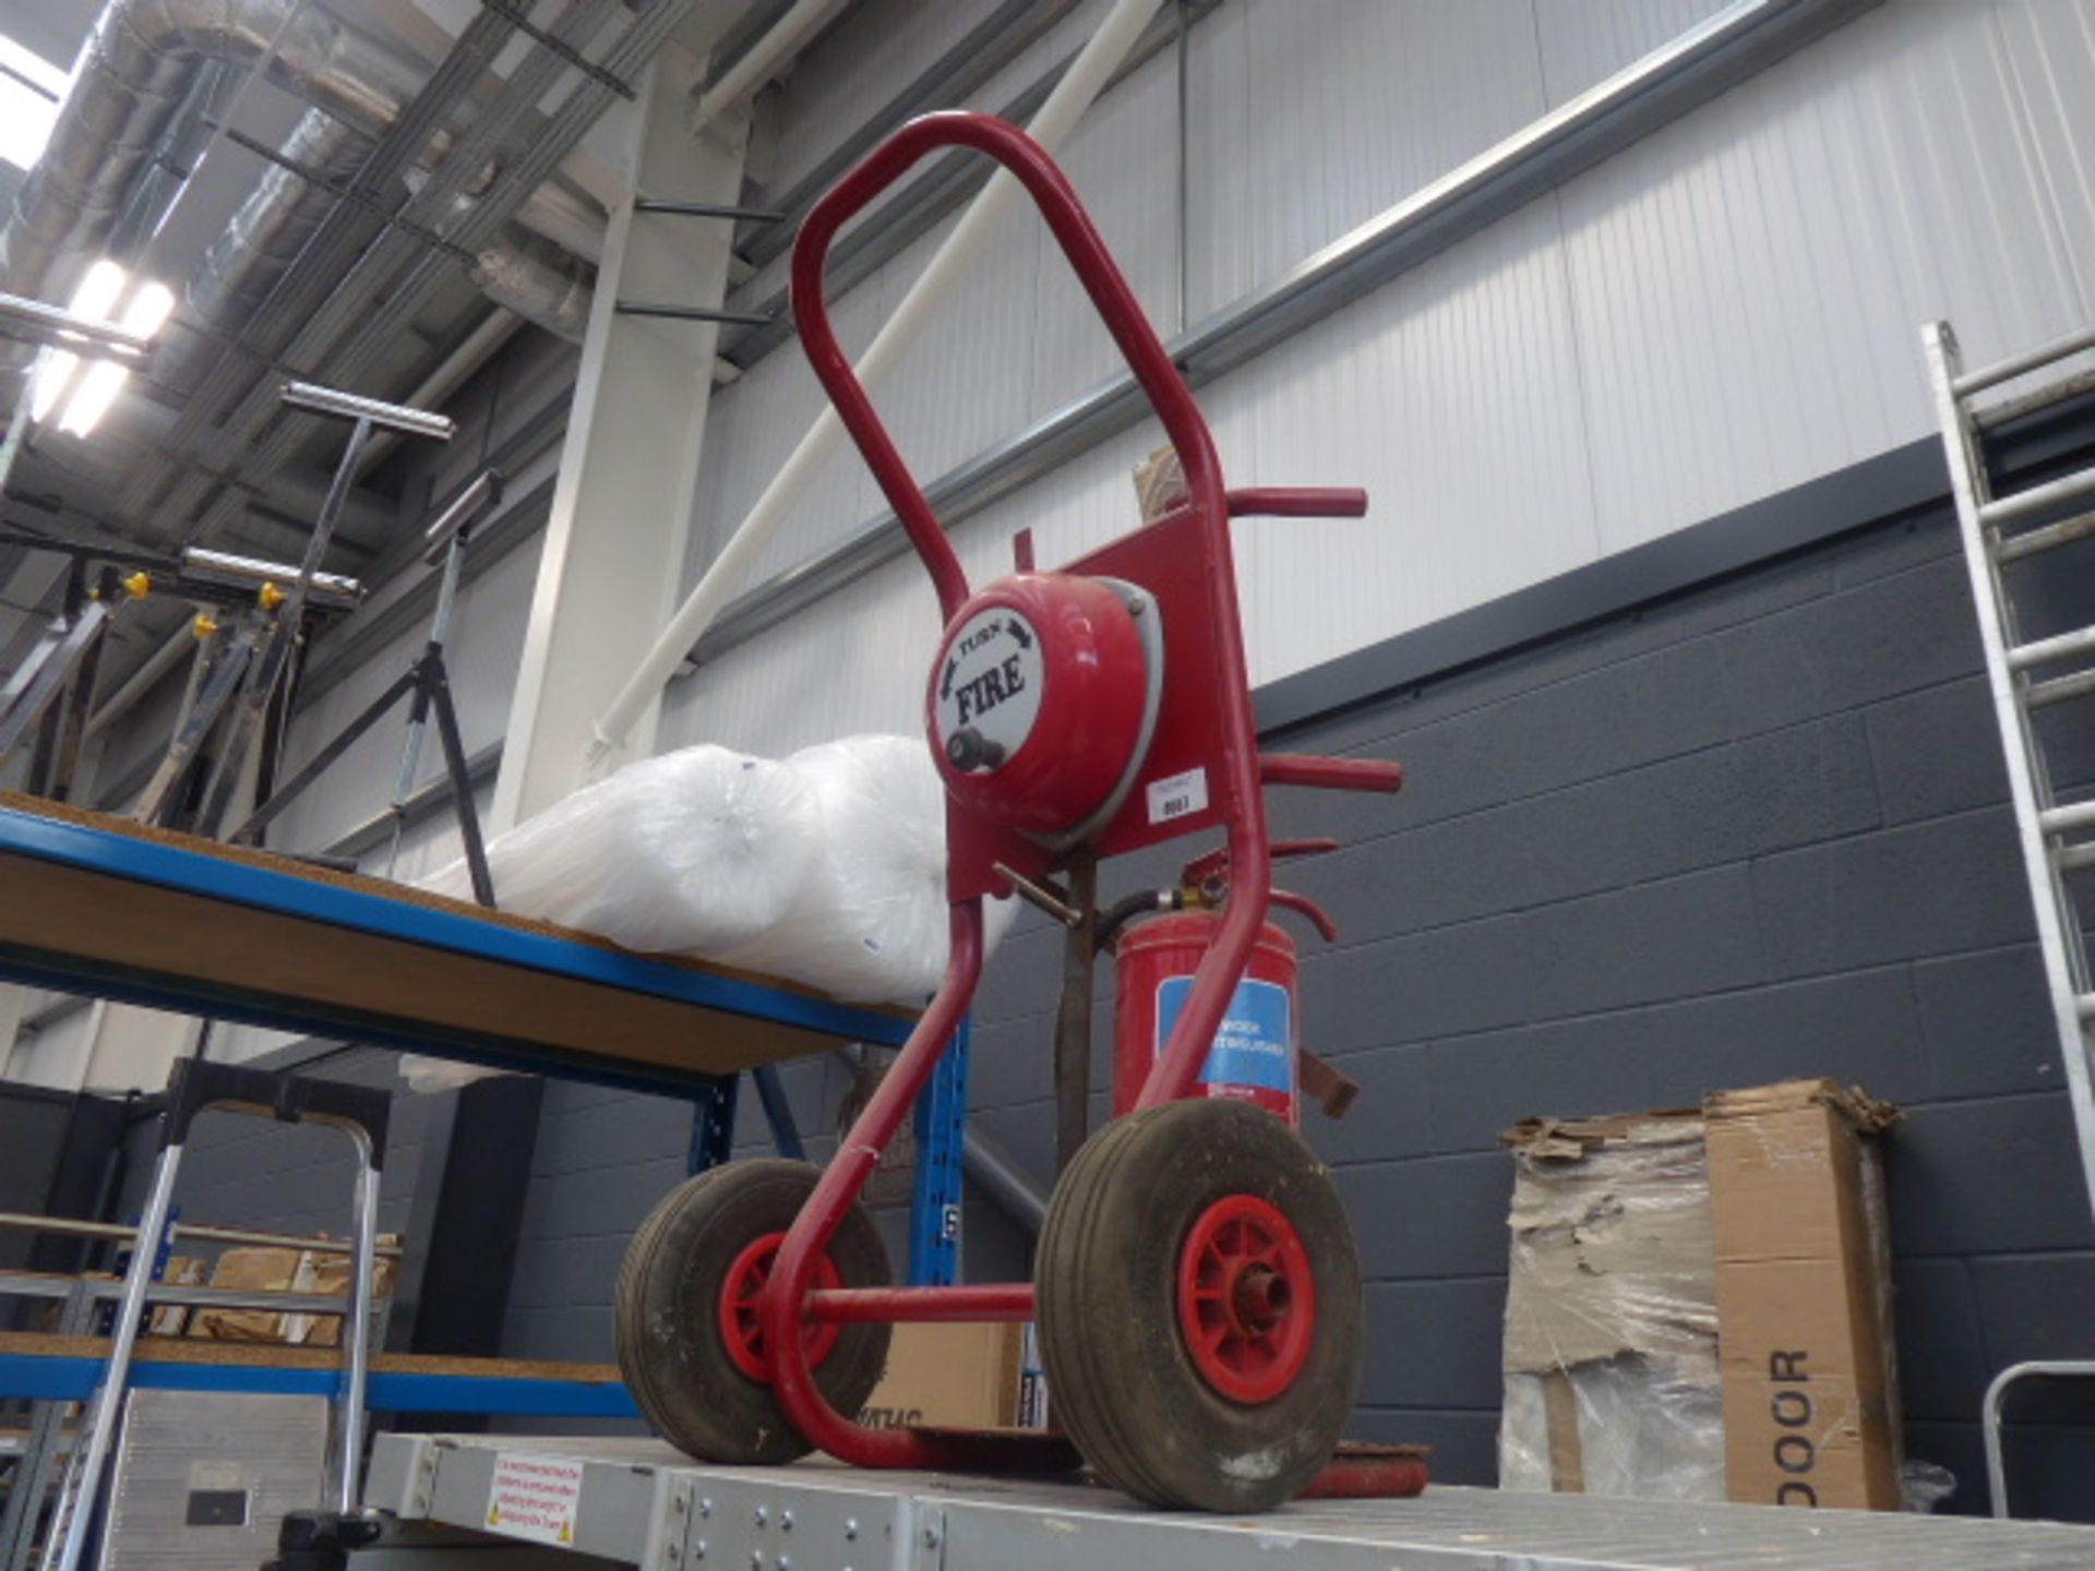
[[[1515,1154],[1502,1489],[1724,1498],[1699,1112],[1529,1119]]]

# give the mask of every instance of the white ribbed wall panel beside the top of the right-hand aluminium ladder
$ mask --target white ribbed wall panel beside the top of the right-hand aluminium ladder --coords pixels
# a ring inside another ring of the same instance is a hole
[[[1927,434],[1921,320],[2087,320],[1992,8],[1883,6],[1561,203],[1609,551]]]

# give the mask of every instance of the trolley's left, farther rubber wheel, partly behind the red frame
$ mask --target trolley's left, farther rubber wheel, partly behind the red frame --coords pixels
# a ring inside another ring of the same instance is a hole
[[[626,1246],[618,1372],[662,1439],[702,1462],[792,1462],[811,1450],[771,1391],[756,1295],[819,1177],[777,1158],[714,1167],[672,1190]],[[851,1207],[815,1286],[886,1284],[880,1234]],[[809,1326],[804,1336],[821,1393],[857,1418],[888,1362],[888,1326]]]

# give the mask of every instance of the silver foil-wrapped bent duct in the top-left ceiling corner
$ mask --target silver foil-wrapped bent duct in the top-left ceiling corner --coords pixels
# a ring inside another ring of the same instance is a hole
[[[212,61],[251,69],[264,59],[270,82],[365,134],[392,124],[419,75],[316,4],[111,0],[0,233],[4,287],[67,297],[103,253],[197,73]]]

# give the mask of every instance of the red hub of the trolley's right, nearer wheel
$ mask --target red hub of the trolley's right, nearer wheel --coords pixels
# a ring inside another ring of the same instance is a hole
[[[1316,1280],[1295,1223],[1253,1194],[1228,1194],[1192,1223],[1179,1253],[1179,1334],[1215,1391],[1257,1406],[1309,1362]]]

